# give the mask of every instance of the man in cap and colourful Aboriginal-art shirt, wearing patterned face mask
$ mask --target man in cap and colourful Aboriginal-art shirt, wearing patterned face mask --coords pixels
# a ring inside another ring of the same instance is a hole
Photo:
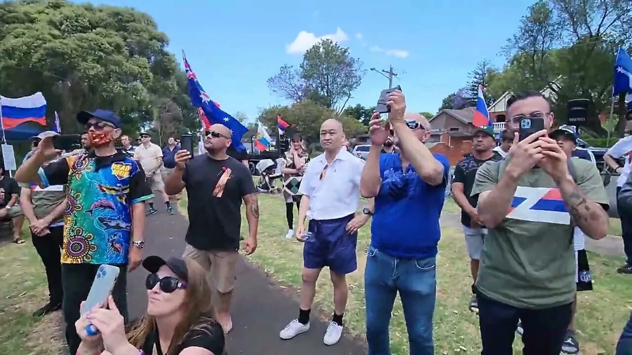
[[[76,354],[81,342],[74,324],[99,265],[121,269],[112,297],[127,318],[126,272],[140,265],[145,244],[143,202],[153,197],[140,164],[114,148],[114,139],[121,135],[119,117],[99,109],[79,112],[77,121],[88,129],[89,152],[44,165],[59,153],[52,136],[46,136],[15,173],[21,183],[37,183],[41,188],[67,185],[61,280],[70,354]]]

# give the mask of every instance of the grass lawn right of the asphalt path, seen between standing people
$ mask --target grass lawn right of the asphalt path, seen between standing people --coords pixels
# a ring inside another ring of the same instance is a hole
[[[302,244],[284,238],[287,231],[284,203],[280,196],[260,195],[259,243],[250,256],[252,262],[279,283],[297,289],[301,282]],[[446,212],[458,212],[450,199]],[[295,214],[296,215],[296,214]],[[243,232],[247,231],[244,217]],[[365,303],[363,268],[369,243],[368,226],[358,236],[358,271],[348,276],[349,302],[345,315],[346,329],[360,337],[365,333]],[[437,305],[434,317],[435,353],[480,353],[478,319],[468,311],[470,298],[470,270],[462,232],[444,228],[437,259]],[[615,268],[623,258],[604,257],[589,253],[595,291],[580,293],[577,328],[583,354],[612,354],[623,325],[632,307],[632,288]],[[298,294],[298,291],[297,291]],[[332,289],[329,273],[321,274],[316,302],[324,313],[332,311]],[[296,315],[282,315],[291,320]],[[514,343],[521,349],[520,340]],[[391,347],[393,354],[408,354],[408,335],[403,310],[396,301],[391,320]]]

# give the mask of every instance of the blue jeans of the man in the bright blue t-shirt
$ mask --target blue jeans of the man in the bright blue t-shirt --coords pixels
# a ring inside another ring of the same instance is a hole
[[[400,259],[370,246],[364,272],[368,355],[391,355],[389,323],[399,292],[410,355],[434,354],[432,316],[437,291],[435,257]]]

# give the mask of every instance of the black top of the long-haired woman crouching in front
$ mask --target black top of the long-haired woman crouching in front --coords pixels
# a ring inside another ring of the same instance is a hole
[[[131,327],[133,327],[133,325]],[[145,352],[145,354],[166,355],[167,349],[160,349],[162,351],[161,354],[161,351],[158,351],[159,346],[156,346],[158,334],[158,330],[154,329],[154,332],[147,336],[140,350]],[[176,354],[179,354],[187,347],[197,346],[202,349],[207,349],[214,355],[223,355],[225,344],[224,330],[222,330],[219,323],[209,320],[204,323],[204,325],[195,327],[186,335],[185,339],[183,339],[176,348]],[[154,352],[154,347],[157,350],[156,352]]]

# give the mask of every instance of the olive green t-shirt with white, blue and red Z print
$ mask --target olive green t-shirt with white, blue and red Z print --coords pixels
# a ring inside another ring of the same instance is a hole
[[[508,159],[487,162],[477,172],[471,195],[493,190]],[[571,160],[574,179],[586,198],[608,205],[595,164]],[[559,189],[542,169],[518,181],[507,217],[489,229],[476,286],[483,296],[517,308],[542,309],[571,303],[576,292],[573,226]]]

